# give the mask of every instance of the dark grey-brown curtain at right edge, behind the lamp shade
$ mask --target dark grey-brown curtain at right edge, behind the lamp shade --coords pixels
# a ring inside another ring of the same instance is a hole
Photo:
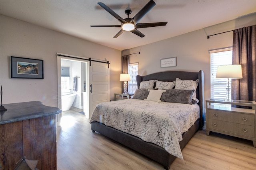
[[[232,79],[231,98],[256,101],[256,25],[233,31],[232,64],[242,65],[242,79]]]

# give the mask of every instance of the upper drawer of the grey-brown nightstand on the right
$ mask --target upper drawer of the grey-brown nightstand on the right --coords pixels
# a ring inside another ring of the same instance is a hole
[[[243,125],[254,126],[254,115],[244,114],[244,113],[234,113],[229,111],[220,110],[208,110],[208,119],[215,119],[220,121],[239,123]]]

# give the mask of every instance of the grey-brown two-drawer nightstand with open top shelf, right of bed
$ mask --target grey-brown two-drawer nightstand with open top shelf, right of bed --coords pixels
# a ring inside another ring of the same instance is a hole
[[[231,106],[248,106],[252,109]],[[206,100],[206,134],[210,131],[253,141],[256,147],[256,102]]]

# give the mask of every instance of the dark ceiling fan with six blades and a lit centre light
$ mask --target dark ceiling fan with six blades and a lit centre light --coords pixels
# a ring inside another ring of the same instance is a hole
[[[148,27],[158,27],[165,26],[167,22],[152,22],[152,23],[138,23],[144,15],[146,15],[155,5],[156,3],[153,0],[150,0],[146,6],[144,6],[138,14],[136,14],[133,18],[129,18],[129,15],[132,13],[131,9],[128,8],[125,10],[125,14],[128,16],[127,18],[121,18],[118,14],[116,14],[113,10],[111,10],[108,6],[103,4],[102,2],[98,2],[98,4],[104,8],[107,12],[109,12],[112,16],[114,16],[121,25],[105,25],[105,26],[91,26],[91,27],[120,27],[121,30],[114,36],[117,38],[124,31],[130,31],[141,38],[145,35],[138,31],[138,28],[148,28]]]

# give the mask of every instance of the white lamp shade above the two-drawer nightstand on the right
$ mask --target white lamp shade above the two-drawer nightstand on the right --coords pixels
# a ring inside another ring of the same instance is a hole
[[[219,65],[216,78],[242,79],[242,67],[239,64]]]

